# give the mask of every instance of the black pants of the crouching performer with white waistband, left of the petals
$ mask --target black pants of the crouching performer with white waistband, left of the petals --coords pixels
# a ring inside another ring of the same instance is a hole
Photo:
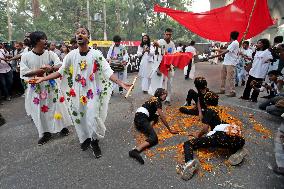
[[[158,144],[158,136],[151,125],[151,121],[157,122],[158,115],[150,116],[150,118],[144,113],[136,113],[134,118],[134,124],[138,131],[143,133],[147,139],[146,141],[150,143],[150,147]]]

